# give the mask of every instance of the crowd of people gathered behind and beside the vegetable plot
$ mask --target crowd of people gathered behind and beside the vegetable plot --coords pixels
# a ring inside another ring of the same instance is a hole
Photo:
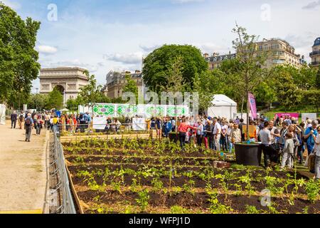
[[[53,131],[57,126],[60,130],[70,133],[85,132],[90,128],[92,117],[89,113],[78,115],[60,115],[55,110],[43,113],[11,114],[11,128],[26,130],[26,141],[31,140],[31,131],[36,130],[36,135],[41,130]],[[120,126],[131,129],[132,118],[125,118],[122,123],[117,118],[107,118],[105,130],[118,131]],[[168,138],[170,133],[177,133],[181,147],[186,143],[195,146],[204,146],[215,151],[233,152],[235,143],[259,142],[262,144],[265,167],[280,164],[292,168],[294,160],[300,164],[304,162],[304,152],[315,156],[316,177],[320,178],[320,126],[319,120],[298,120],[289,116],[280,116],[268,120],[261,115],[256,120],[250,120],[250,134],[247,137],[247,124],[242,118],[227,120],[227,118],[210,118],[206,115],[198,117],[180,118],[151,118],[146,120],[146,130],[156,130],[157,138]],[[280,159],[282,157],[282,159]]]

